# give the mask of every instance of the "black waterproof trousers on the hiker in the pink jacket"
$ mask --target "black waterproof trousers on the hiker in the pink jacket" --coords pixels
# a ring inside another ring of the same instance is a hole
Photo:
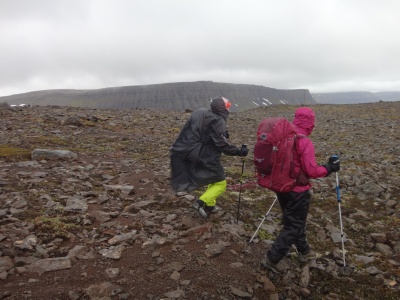
[[[306,235],[307,215],[311,202],[310,192],[277,193],[277,196],[283,213],[283,229],[267,253],[273,263],[278,263],[293,244],[302,254],[310,251]]]

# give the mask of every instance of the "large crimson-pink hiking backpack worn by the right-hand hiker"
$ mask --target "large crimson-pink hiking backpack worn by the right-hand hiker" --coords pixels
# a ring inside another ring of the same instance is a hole
[[[293,157],[297,135],[285,118],[266,118],[257,129],[254,165],[258,184],[274,192],[290,192],[296,184]]]

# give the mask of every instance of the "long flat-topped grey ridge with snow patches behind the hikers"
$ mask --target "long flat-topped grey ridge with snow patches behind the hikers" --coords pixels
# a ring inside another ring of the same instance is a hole
[[[209,107],[213,97],[231,100],[231,111],[282,104],[316,104],[306,89],[284,90],[261,85],[178,82],[153,85],[110,87],[94,90],[43,90],[0,97],[10,105],[60,105],[98,109],[162,109],[181,111]]]

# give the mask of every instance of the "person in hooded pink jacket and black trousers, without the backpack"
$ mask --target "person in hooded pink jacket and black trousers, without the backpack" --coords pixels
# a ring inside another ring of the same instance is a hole
[[[306,221],[311,202],[310,178],[321,178],[340,170],[339,160],[329,159],[323,166],[318,165],[315,158],[315,148],[307,138],[315,125],[315,114],[311,108],[301,107],[295,112],[293,125],[297,134],[306,138],[298,139],[297,156],[295,156],[295,174],[300,174],[293,190],[288,193],[277,193],[279,205],[282,209],[283,229],[276,238],[272,248],[267,252],[264,268],[276,273],[281,272],[279,261],[286,256],[292,245],[299,253],[299,260],[307,262],[312,255],[306,236]]]

